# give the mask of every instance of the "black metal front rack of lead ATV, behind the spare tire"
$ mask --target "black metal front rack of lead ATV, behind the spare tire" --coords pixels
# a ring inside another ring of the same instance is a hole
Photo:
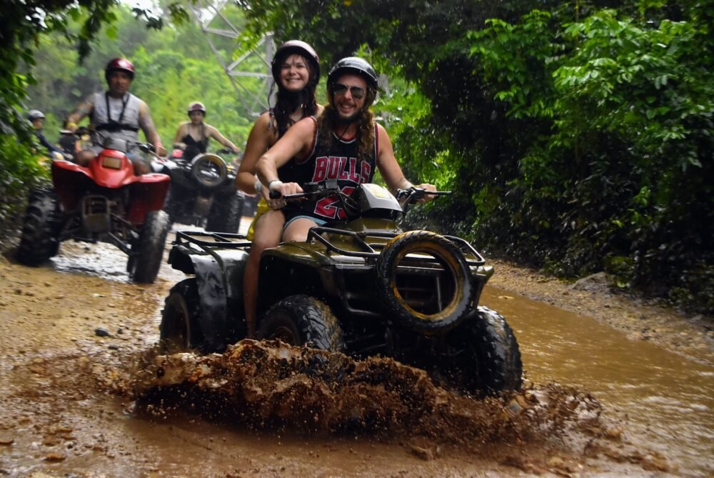
[[[324,233],[327,234],[338,234],[341,236],[348,236],[351,239],[353,239],[353,242],[357,244],[359,247],[363,249],[363,251],[350,251],[348,249],[343,249],[341,247],[336,246],[332,242],[330,242],[329,239],[327,239],[326,236],[323,236]],[[369,238],[380,238],[380,239],[393,239],[394,237],[398,236],[398,233],[396,232],[378,232],[378,231],[371,231],[369,233],[365,232],[355,232],[355,231],[346,231],[345,229],[334,229],[332,227],[325,227],[325,226],[316,226],[313,227],[308,231],[308,242],[311,239],[315,239],[318,242],[321,242],[322,244],[327,247],[328,251],[334,251],[337,252],[338,254],[342,254],[343,256],[349,256],[349,257],[363,257],[363,258],[373,258],[376,259],[378,255],[380,254],[381,250],[384,249],[384,242],[367,242]],[[469,266],[483,266],[483,264],[486,264],[486,259],[483,259],[483,256],[476,251],[476,249],[473,248],[473,246],[466,240],[461,239],[461,237],[456,237],[456,236],[443,236],[446,237],[449,241],[453,242],[453,244],[458,247],[458,249],[461,250],[464,258],[466,259],[466,263]]]

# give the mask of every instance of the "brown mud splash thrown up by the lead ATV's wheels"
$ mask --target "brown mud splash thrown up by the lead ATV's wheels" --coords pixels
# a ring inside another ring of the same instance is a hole
[[[410,435],[458,444],[543,442],[573,429],[612,434],[598,400],[549,384],[473,399],[393,359],[243,340],[224,354],[148,354],[124,392],[155,416],[178,409],[256,429]]]

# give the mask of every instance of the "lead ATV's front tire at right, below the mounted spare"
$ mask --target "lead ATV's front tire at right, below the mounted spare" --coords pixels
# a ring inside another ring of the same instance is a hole
[[[521,389],[523,364],[518,341],[506,319],[488,307],[446,336],[448,358],[440,373],[454,386],[473,394]]]

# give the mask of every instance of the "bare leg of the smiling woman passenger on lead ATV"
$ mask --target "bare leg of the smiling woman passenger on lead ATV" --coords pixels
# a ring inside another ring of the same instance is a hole
[[[261,264],[261,254],[268,247],[275,247],[280,243],[283,224],[285,224],[285,216],[281,211],[268,211],[256,221],[251,252],[248,254],[246,271],[243,275],[243,304],[246,309],[248,338],[253,338],[256,335],[258,273],[260,272],[258,268]]]

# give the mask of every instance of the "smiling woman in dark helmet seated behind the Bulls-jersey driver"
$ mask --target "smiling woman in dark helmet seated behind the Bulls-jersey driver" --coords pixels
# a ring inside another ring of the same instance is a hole
[[[243,279],[243,300],[246,308],[248,337],[256,332],[256,301],[258,298],[258,266],[261,253],[280,242],[285,217],[279,209],[281,200],[269,199],[267,188],[256,179],[256,164],[263,153],[276,144],[297,121],[307,116],[321,114],[315,89],[320,80],[320,59],[312,46],[304,41],[290,40],[278,48],[272,62],[273,80],[278,87],[276,106],[261,114],[251,129],[236,176],[236,186],[248,194],[261,194],[258,214],[253,219],[248,239],[252,239],[251,252]],[[270,95],[268,95],[270,96]],[[289,172],[286,169],[284,175]]]

